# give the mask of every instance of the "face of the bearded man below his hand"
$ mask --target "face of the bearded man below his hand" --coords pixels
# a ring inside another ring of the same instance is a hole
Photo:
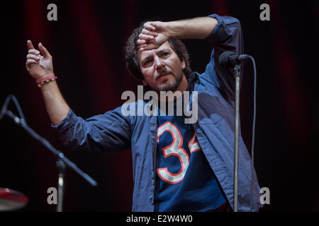
[[[184,76],[185,61],[181,61],[169,42],[158,49],[138,52],[142,83],[155,91],[175,91]]]

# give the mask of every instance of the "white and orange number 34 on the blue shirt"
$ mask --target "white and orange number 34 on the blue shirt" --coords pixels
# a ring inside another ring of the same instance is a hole
[[[174,124],[172,124],[170,121],[162,124],[162,126],[159,126],[157,129],[157,142],[159,142],[159,136],[161,136],[165,131],[171,133],[173,142],[167,147],[162,148],[164,157],[169,157],[171,155],[176,155],[179,157],[179,162],[181,162],[181,170],[179,170],[177,173],[171,173],[167,170],[167,167],[164,167],[158,168],[157,174],[162,180],[164,180],[164,182],[169,184],[177,184],[184,179],[186,169],[189,166],[189,155],[186,153],[184,148],[181,148],[181,145],[183,145],[183,138],[181,137],[179,129],[177,129],[177,126],[174,126]],[[196,141],[194,143],[194,141],[195,133],[191,138],[191,141],[189,141],[189,150],[191,153],[201,149],[198,145],[198,142]]]

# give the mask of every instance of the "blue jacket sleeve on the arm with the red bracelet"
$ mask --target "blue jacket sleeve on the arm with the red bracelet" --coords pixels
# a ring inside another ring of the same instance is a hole
[[[121,114],[121,107],[85,120],[69,109],[60,124],[51,126],[62,143],[75,150],[111,152],[130,148],[130,120]]]

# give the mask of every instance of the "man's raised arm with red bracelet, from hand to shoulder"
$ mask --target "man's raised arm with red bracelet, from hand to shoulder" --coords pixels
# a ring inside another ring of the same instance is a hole
[[[35,80],[53,73],[52,57],[43,44],[39,50],[28,40],[26,68]],[[130,122],[121,107],[89,119],[77,117],[65,102],[56,81],[40,87],[47,114],[62,143],[69,148],[115,151],[130,148]]]

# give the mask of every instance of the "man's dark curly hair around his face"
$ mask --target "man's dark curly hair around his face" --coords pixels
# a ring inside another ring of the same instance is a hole
[[[133,30],[132,35],[128,37],[128,40],[126,41],[124,50],[125,50],[125,64],[130,72],[130,75],[133,76],[138,82],[141,82],[144,79],[144,76],[142,75],[142,72],[140,71],[140,64],[138,62],[138,57],[136,53],[138,52],[138,44],[136,43],[138,41],[138,35],[140,35],[140,32],[142,32],[143,25],[147,21],[145,20],[138,28],[135,28]],[[183,69],[183,72],[185,76],[189,76],[191,73],[191,67],[190,67],[190,60],[189,60],[189,54],[187,52],[187,49],[181,40],[168,40],[169,45],[172,47],[174,52],[176,52],[179,59],[182,61],[185,61],[185,69]]]

